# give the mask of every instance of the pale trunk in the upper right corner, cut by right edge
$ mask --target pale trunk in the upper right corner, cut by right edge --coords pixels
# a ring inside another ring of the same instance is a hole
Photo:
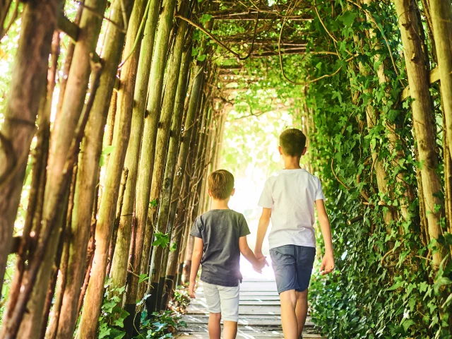
[[[448,0],[429,0],[433,35],[438,57],[441,98],[446,117],[449,154],[452,154],[452,4]]]

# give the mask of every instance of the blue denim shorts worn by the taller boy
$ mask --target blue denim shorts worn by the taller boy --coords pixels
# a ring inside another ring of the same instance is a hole
[[[285,245],[270,249],[278,293],[306,290],[311,280],[315,256],[316,249],[308,246]]]

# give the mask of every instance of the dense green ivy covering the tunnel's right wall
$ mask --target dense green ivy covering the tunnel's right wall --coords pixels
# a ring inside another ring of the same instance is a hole
[[[312,83],[307,91],[315,126],[311,164],[327,196],[336,259],[335,274],[313,277],[312,319],[328,338],[452,338],[451,308],[443,306],[452,299],[451,261],[445,260],[435,272],[431,254],[436,245],[425,242],[419,220],[416,172],[421,164],[416,160],[410,105],[400,102],[401,85],[407,80],[403,59],[395,52],[400,49],[397,17],[391,5],[375,6],[366,7],[378,23],[372,39],[367,16],[359,8],[319,6],[328,31],[339,41],[339,57],[348,58],[347,51],[357,55],[343,64],[343,71]],[[340,25],[328,20],[335,16]],[[326,50],[331,40],[318,18],[312,25],[319,35],[309,38],[310,48]],[[388,81],[381,85],[379,60],[385,60]],[[311,57],[305,67],[318,77],[333,74],[340,64]],[[371,127],[366,121],[369,106],[379,114]],[[376,185],[376,161],[386,173],[386,194]],[[404,203],[410,194],[412,201]],[[402,208],[408,210],[406,220]],[[386,224],[388,213],[396,218]],[[362,220],[347,224],[358,215]]]

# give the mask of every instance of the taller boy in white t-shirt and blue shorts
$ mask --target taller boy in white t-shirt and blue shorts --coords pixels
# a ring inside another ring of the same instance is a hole
[[[287,129],[280,135],[278,150],[283,156],[284,169],[267,179],[258,203],[263,210],[254,253],[256,258],[263,258],[262,243],[271,217],[268,242],[280,294],[285,339],[302,338],[306,322],[307,289],[316,254],[314,205],[325,242],[321,274],[334,269],[331,228],[323,204],[325,196],[321,182],[299,166],[306,153],[305,145],[306,136],[299,129]]]

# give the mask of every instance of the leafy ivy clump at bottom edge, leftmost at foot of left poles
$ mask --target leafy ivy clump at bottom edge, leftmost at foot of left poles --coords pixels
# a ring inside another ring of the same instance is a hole
[[[105,294],[99,317],[99,338],[121,339],[124,338],[124,319],[129,316],[127,311],[121,309],[121,298],[119,295],[126,289],[113,287],[111,279],[107,279],[104,287]]]

